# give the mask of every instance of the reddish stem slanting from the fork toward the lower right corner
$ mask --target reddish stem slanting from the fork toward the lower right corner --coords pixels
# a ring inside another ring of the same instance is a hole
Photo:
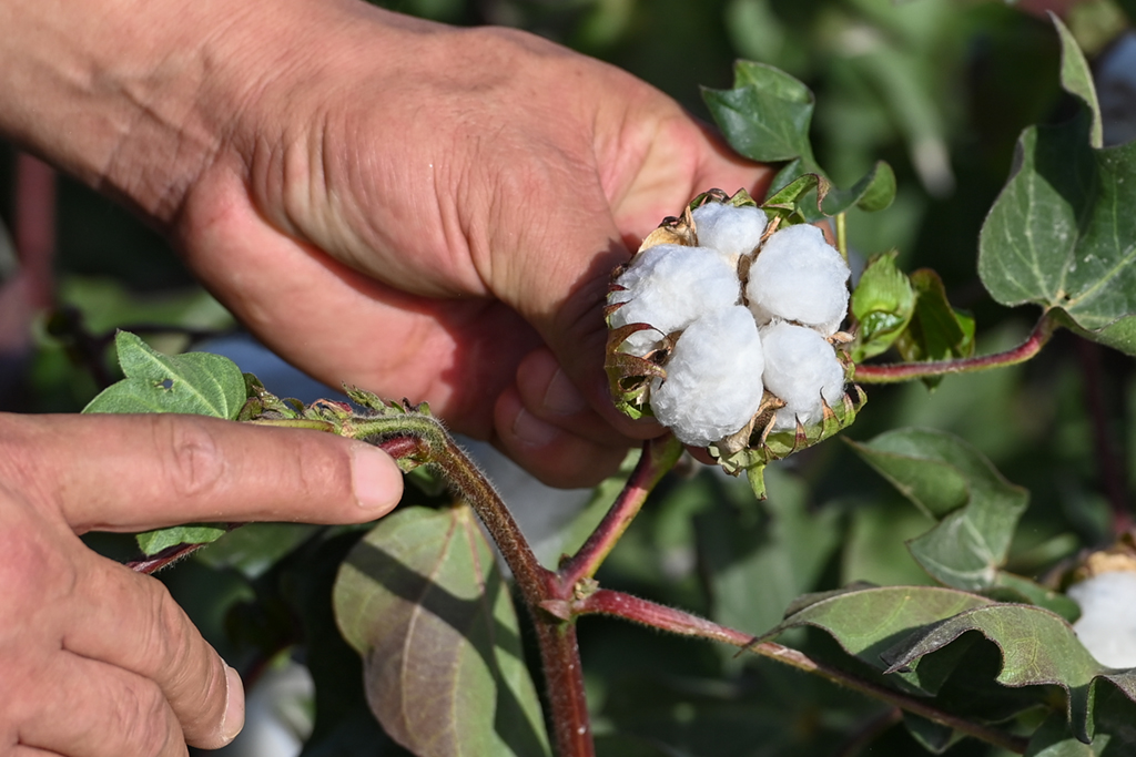
[[[644,625],[651,625],[680,636],[700,637],[733,645],[745,651],[751,651],[761,657],[795,667],[799,671],[819,675],[827,681],[852,689],[853,691],[859,691],[872,699],[878,699],[900,709],[920,715],[929,721],[955,729],[967,735],[1002,747],[1009,751],[1019,755],[1026,751],[1026,739],[991,726],[972,723],[963,717],[938,709],[926,700],[888,689],[878,683],[864,681],[838,667],[812,659],[796,649],[790,649],[772,641],[754,644],[754,637],[749,633],[719,625],[718,623],[680,609],[666,607],[619,591],[600,589],[573,603],[571,612],[574,615],[602,614],[623,617],[635,623],[643,623]]]

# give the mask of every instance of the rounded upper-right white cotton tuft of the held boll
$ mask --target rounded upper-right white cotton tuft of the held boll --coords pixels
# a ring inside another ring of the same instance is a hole
[[[758,323],[775,318],[832,336],[849,306],[849,267],[816,226],[772,234],[750,268],[745,294]]]

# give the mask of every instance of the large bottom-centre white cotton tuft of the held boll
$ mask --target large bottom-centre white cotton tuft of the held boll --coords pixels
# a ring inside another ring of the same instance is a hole
[[[761,405],[761,337],[742,305],[687,327],[651,385],[651,410],[684,444],[704,447],[741,430]]]

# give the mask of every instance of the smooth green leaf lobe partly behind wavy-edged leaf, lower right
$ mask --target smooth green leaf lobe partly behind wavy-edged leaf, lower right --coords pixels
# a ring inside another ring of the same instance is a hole
[[[774,639],[786,629],[811,625],[832,634],[850,655],[884,671],[887,664],[880,655],[912,633],[963,611],[991,604],[978,595],[938,587],[874,587],[844,591],[788,615],[757,641]],[[897,684],[904,688],[929,693],[942,683],[943,674],[936,670],[934,680],[922,681],[916,667],[897,673],[896,678],[902,682]]]

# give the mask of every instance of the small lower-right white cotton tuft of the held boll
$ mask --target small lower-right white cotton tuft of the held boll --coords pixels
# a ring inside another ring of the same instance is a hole
[[[834,406],[844,394],[844,368],[836,350],[811,328],[792,323],[775,323],[761,329],[761,347],[766,371],[761,378],[766,388],[785,406],[777,411],[774,431],[810,426],[824,418],[824,397]]]

